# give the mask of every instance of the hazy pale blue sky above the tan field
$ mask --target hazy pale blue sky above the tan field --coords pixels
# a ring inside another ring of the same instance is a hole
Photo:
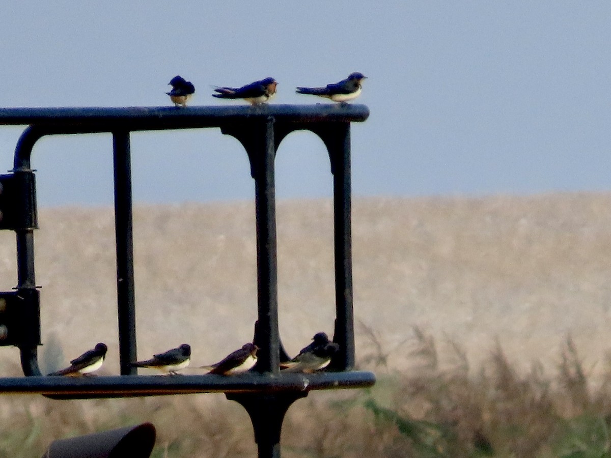
[[[360,71],[355,195],[611,187],[608,0],[12,3],[0,106],[167,106],[177,74],[192,104],[266,76],[273,103],[326,103],[295,86]],[[22,130],[0,126],[0,170]],[[133,134],[132,158],[137,202],[253,195],[246,153],[218,129]],[[39,205],[112,205],[109,135],[46,137],[32,164]],[[276,178],[279,198],[331,195],[320,140],[287,137]]]

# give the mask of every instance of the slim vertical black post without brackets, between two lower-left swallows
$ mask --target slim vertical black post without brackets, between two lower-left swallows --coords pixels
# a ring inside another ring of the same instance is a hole
[[[136,374],[136,305],[131,208],[130,133],[112,133],[114,157],[115,236],[117,240],[117,305],[121,375]]]

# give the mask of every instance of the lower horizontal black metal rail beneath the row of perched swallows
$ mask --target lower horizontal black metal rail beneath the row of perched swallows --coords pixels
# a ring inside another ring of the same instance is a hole
[[[306,393],[310,390],[365,388],[375,383],[370,372],[320,374],[247,373],[238,376],[89,376],[0,377],[0,394],[38,393],[73,398],[123,398],[190,393]]]

